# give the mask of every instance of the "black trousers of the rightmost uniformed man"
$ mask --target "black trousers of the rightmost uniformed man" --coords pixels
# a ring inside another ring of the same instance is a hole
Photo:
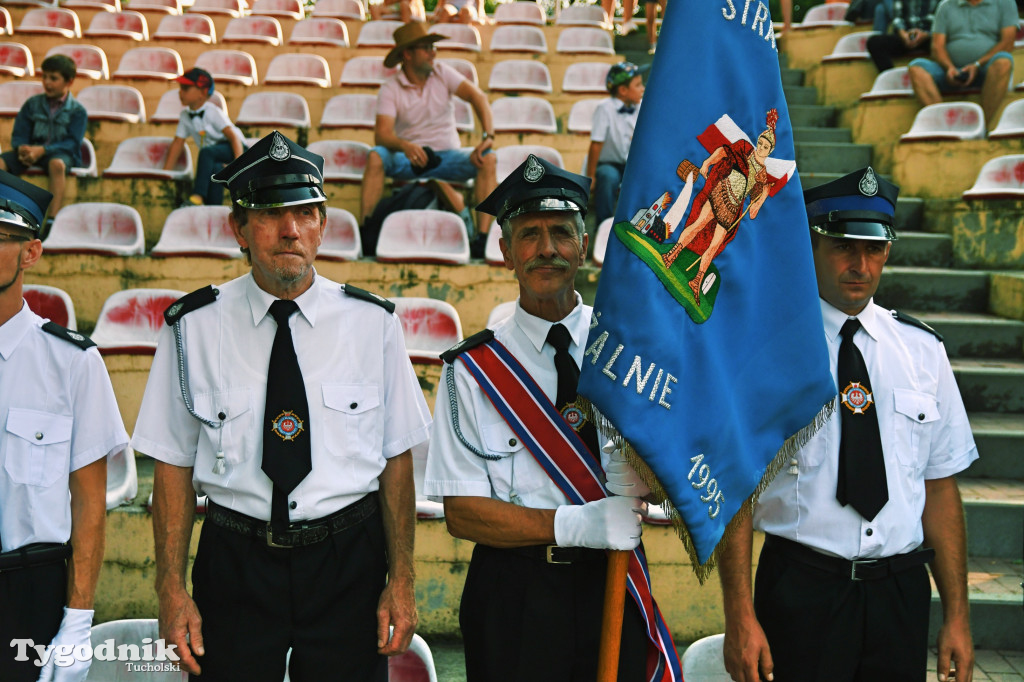
[[[766,543],[754,608],[775,682],[925,682],[931,596],[924,564],[851,581]]]

